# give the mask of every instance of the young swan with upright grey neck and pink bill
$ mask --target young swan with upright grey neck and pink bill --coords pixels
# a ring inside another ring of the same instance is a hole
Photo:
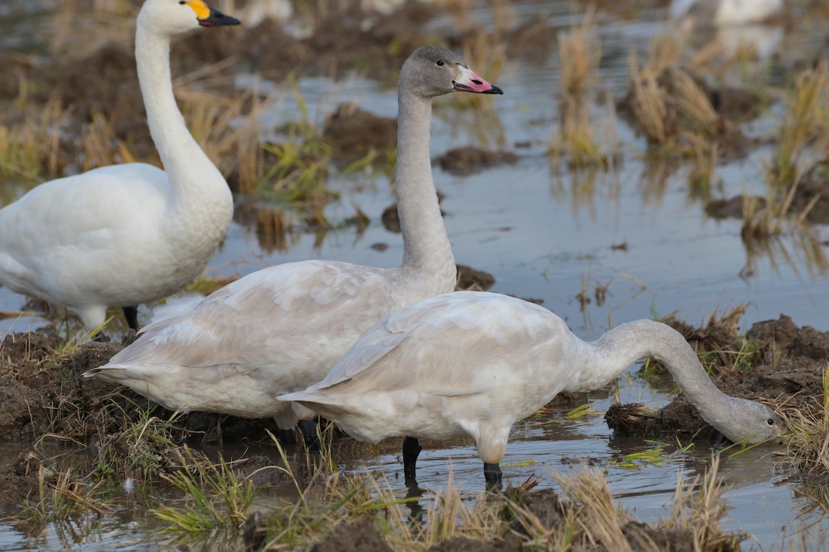
[[[429,160],[432,98],[453,90],[502,94],[443,48],[419,48],[403,64],[395,173],[403,266],[308,261],[256,271],[206,298],[172,302],[137,341],[85,375],[169,409],[274,416],[293,433],[298,417],[313,412],[295,412],[277,395],[319,382],[383,315],[454,289]]]

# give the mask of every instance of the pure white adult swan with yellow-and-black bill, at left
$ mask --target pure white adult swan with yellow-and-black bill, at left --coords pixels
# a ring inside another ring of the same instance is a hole
[[[37,186],[0,210],[0,282],[65,305],[87,330],[108,306],[137,305],[181,290],[225,237],[233,198],[187,131],[170,79],[170,41],[199,26],[239,21],[201,0],[147,0],[135,59],[147,122],[164,168],[105,166]]]

